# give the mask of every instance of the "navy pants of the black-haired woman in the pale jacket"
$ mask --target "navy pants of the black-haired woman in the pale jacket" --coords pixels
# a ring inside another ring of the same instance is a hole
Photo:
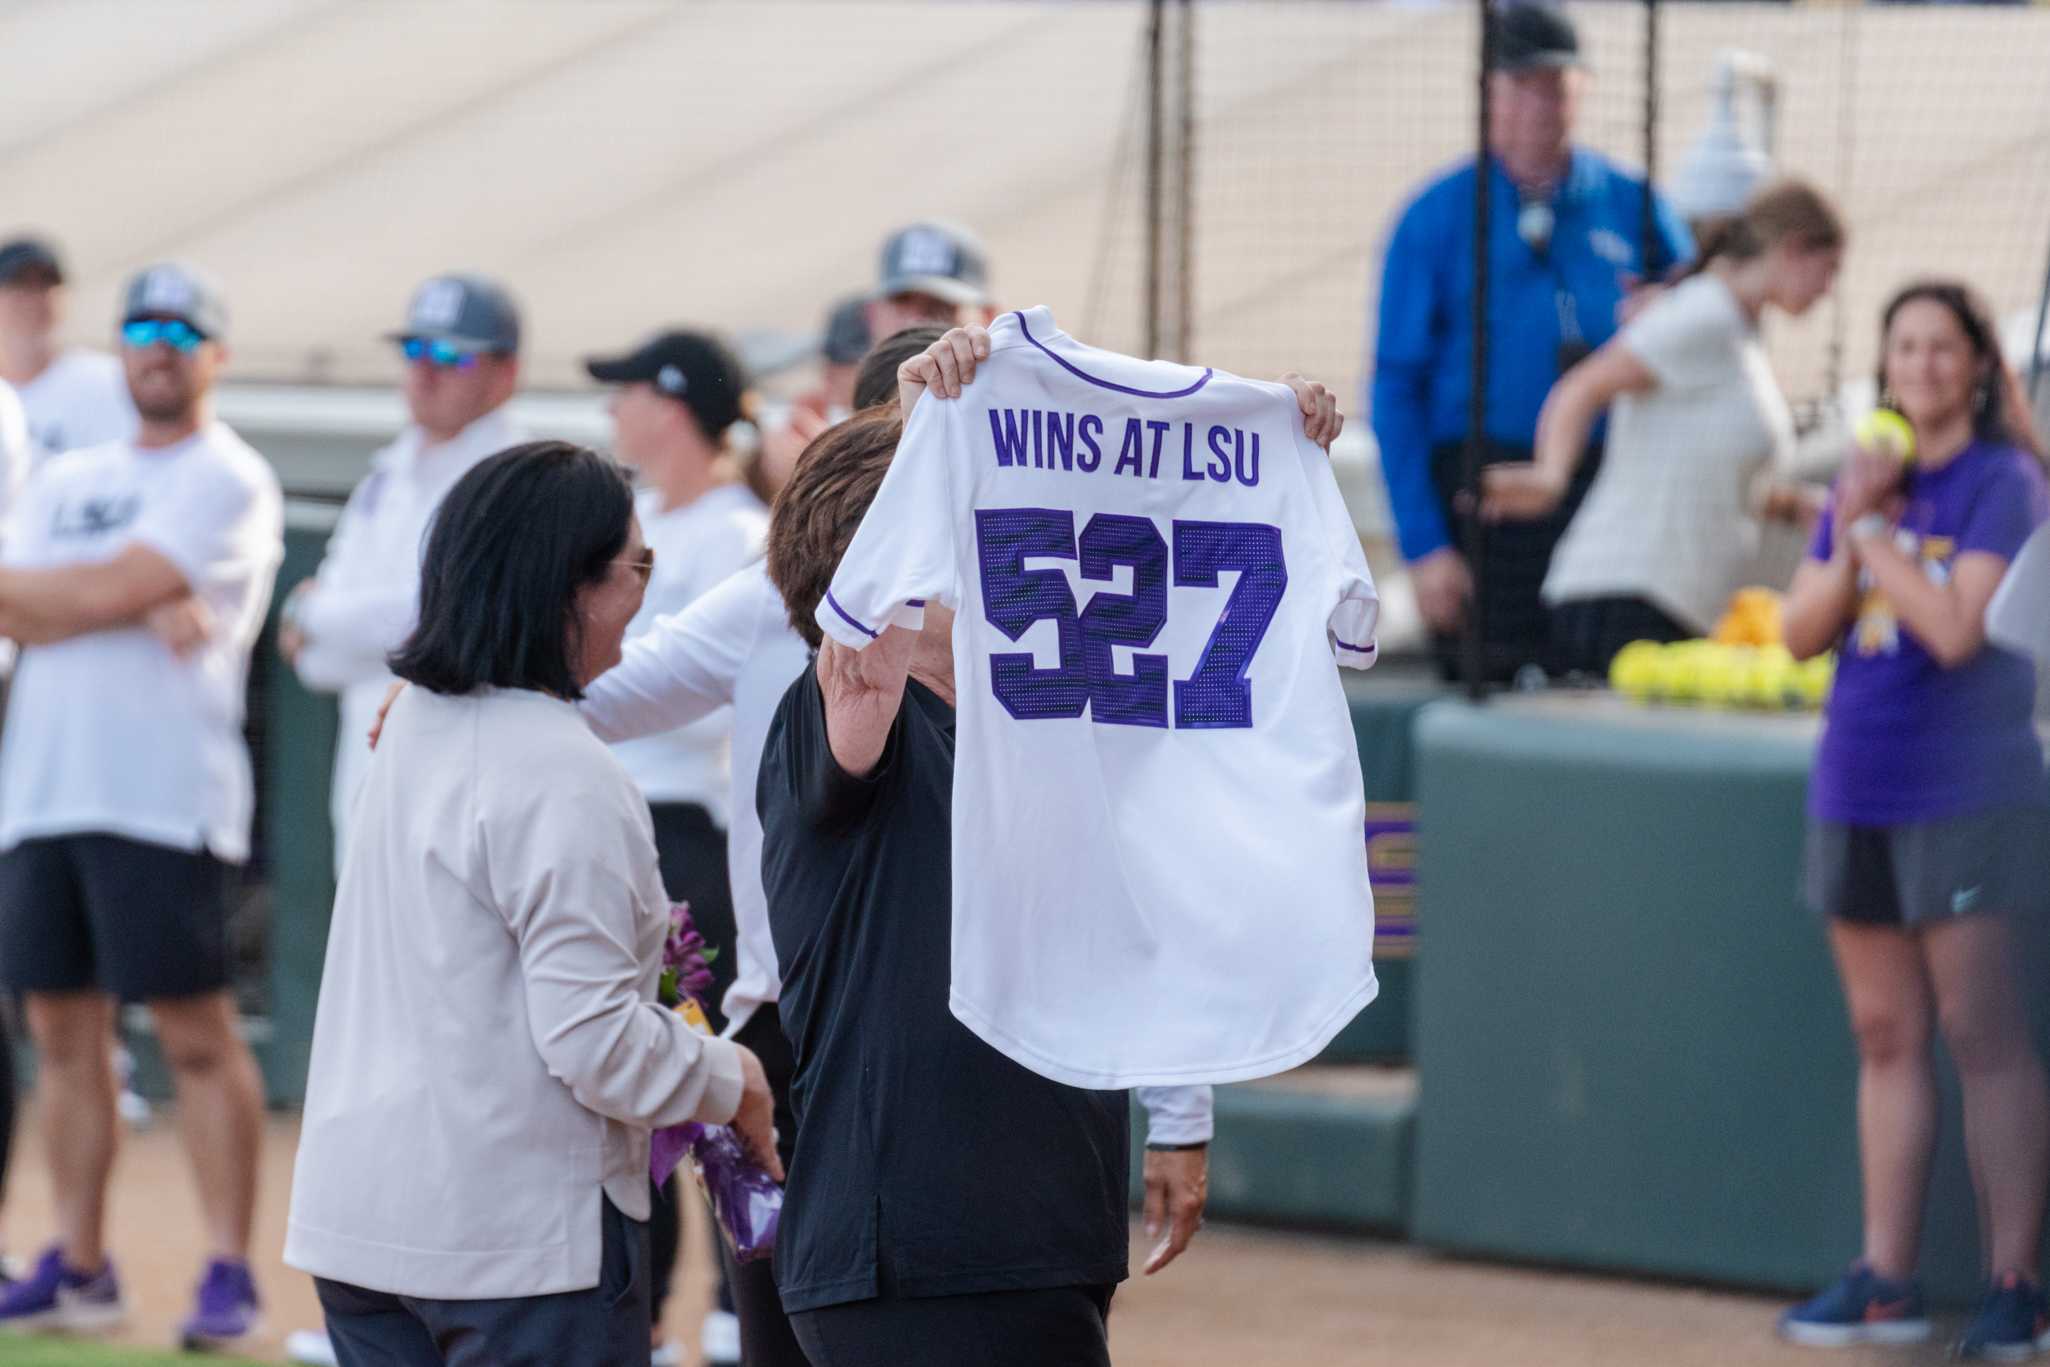
[[[599,1285],[435,1301],[314,1279],[342,1367],[648,1367],[648,1226],[605,1203]]]

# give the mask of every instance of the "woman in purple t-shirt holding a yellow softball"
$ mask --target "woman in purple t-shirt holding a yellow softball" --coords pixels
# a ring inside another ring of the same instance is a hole
[[[1882,404],[1915,428],[1913,461],[1851,455],[1786,603],[1796,656],[1837,650],[1806,892],[1857,1035],[1865,1246],[1779,1330],[1827,1347],[1929,1336],[1915,1262],[1939,1027],[1991,1226],[1991,1289],[1958,1347],[2013,1361],[2050,1347],[2036,1285],[2050,1094],[2009,967],[2009,918],[2050,887],[2050,787],[2034,666],[1986,644],[1986,603],[2050,494],[1976,293],[1911,285],[1886,305],[1880,350]]]

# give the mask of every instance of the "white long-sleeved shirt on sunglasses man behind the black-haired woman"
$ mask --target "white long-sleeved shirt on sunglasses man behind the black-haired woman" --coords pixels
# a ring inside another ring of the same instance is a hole
[[[471,465],[527,439],[502,408],[430,445],[418,426],[371,457],[371,473],[348,496],[328,553],[297,605],[305,648],[293,662],[299,680],[340,693],[342,726],[334,746],[334,867],[342,867],[348,810],[369,767],[365,736],[377,717],[392,672],[385,658],[406,644],[420,611],[420,551],[435,508]]]

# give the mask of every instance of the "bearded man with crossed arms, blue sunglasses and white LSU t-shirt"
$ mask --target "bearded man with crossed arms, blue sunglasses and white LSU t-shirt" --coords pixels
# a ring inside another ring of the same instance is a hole
[[[115,1156],[107,1035],[146,1002],[178,1094],[209,1265],[182,1336],[234,1344],[262,1082],[230,994],[228,904],[250,853],[250,650],[283,560],[277,475],[211,414],[228,309],[199,273],[137,275],[121,363],[131,439],[31,475],[0,541],[0,635],[20,646],[0,740],[0,976],[39,1051],[55,1240],[0,1293],[0,1328],[123,1318],[102,1246]],[[152,629],[170,615],[184,623]]]

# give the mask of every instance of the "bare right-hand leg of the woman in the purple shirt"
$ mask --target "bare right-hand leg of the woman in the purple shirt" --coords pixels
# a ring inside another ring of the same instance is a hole
[[[1999,916],[1960,916],[1923,933],[1943,1045],[1964,1086],[1964,1133],[1974,1156],[1986,1271],[2036,1279],[2044,1197],[2050,1195],[2050,1086],[2029,1039],[2013,974],[2013,941]]]

